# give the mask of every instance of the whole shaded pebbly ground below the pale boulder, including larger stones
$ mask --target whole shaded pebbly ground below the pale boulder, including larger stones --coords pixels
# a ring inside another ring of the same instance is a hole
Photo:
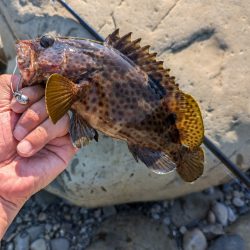
[[[1,249],[248,250],[249,220],[250,191],[238,181],[175,200],[96,209],[42,191],[20,211]]]

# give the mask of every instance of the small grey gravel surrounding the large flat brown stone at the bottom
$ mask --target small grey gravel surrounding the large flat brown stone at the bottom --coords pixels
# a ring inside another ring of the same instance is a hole
[[[175,200],[96,209],[70,205],[42,191],[19,212],[1,242],[1,250],[84,250],[94,246],[91,240],[105,221],[138,213],[161,223],[164,234],[178,249],[243,250],[244,240],[226,229],[249,211],[250,192],[237,180]]]

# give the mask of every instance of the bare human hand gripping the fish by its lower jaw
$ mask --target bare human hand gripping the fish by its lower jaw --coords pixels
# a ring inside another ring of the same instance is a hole
[[[16,89],[17,77],[13,77]],[[12,97],[11,76],[0,76],[0,238],[25,201],[47,186],[76,153],[68,135],[69,118],[56,125],[48,118],[44,89],[24,88],[30,99]]]

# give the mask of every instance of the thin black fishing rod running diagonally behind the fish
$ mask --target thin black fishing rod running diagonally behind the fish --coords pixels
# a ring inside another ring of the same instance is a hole
[[[104,42],[104,38],[92,28],[69,4],[64,0],[57,0],[65,9],[67,9],[78,22],[93,36],[96,40]],[[250,179],[234,164],[208,137],[204,136],[203,144],[248,188],[250,188]]]

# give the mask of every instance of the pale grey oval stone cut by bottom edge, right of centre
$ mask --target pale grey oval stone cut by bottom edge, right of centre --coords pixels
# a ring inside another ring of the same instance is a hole
[[[187,231],[183,238],[184,250],[205,250],[207,248],[207,240],[200,229],[196,228]]]

